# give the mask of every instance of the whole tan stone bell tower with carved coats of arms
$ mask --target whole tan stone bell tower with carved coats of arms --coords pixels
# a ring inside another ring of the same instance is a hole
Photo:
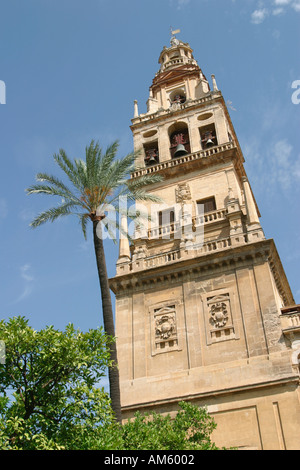
[[[300,449],[300,306],[222,93],[175,37],[159,64],[147,112],[134,103],[131,177],[162,175],[149,192],[163,203],[121,240],[110,280],[123,416],[189,400],[214,416],[217,445]]]

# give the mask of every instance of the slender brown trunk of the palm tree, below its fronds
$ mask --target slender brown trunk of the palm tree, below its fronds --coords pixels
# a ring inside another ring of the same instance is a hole
[[[102,310],[103,310],[103,321],[104,330],[113,338],[115,337],[115,327],[113,310],[111,303],[110,289],[108,285],[108,276],[106,269],[105,253],[102,238],[98,237],[96,233],[97,225],[99,221],[93,220],[93,235],[94,235],[94,247],[97,261],[98,276],[100,282],[101,298],[102,298]],[[100,229],[100,227],[99,227]],[[122,422],[121,414],[121,398],[120,398],[120,380],[119,380],[119,369],[117,360],[117,347],[115,341],[110,345],[110,356],[114,365],[108,369],[109,387],[110,387],[110,398],[112,409],[115,413],[116,419],[119,423]]]

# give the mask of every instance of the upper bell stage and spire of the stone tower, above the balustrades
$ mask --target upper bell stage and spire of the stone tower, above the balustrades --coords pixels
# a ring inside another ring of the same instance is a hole
[[[220,146],[224,154],[224,150],[235,147],[242,179],[242,152],[215,76],[212,75],[211,88],[190,45],[175,37],[170,47],[163,48],[158,62],[160,68],[149,88],[147,112],[140,114],[137,101],[134,105],[131,130],[134,149],[140,155],[139,168],[161,171],[157,165],[169,162],[168,167],[175,167],[179,157],[212,148],[213,153],[218,153]],[[206,154],[200,157],[203,155]],[[195,156],[193,160],[199,164],[200,158]]]

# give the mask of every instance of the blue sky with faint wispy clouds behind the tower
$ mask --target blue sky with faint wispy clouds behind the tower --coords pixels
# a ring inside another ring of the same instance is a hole
[[[0,315],[39,329],[102,324],[92,238],[77,220],[29,228],[49,206],[25,188],[39,171],[60,176],[53,154],[81,157],[91,139],[132,150],[133,101],[146,111],[170,27],[207,78],[216,75],[246,159],[267,237],[274,238],[300,303],[297,0],[1,1]],[[117,249],[106,245],[109,275]]]

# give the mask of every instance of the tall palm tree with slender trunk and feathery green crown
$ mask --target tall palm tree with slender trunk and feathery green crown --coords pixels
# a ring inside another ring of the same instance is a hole
[[[114,222],[107,223],[105,208],[114,207],[117,212],[128,215],[127,209],[121,208],[120,197],[127,197],[129,201],[158,202],[159,198],[146,192],[145,186],[161,180],[156,175],[145,175],[139,179],[130,180],[130,173],[136,166],[136,154],[130,153],[123,159],[117,158],[118,141],[107,147],[103,153],[99,143],[93,140],[85,149],[85,161],[75,159],[71,161],[66,152],[61,149],[54,154],[54,160],[67,176],[70,189],[63,181],[46,173],[36,175],[38,184],[26,189],[27,194],[48,194],[60,198],[58,204],[39,214],[30,224],[39,227],[45,222],[53,222],[59,217],[75,215],[79,218],[84,237],[87,236],[87,224],[92,222],[93,241],[96,255],[96,264],[102,298],[103,323],[106,333],[114,337],[114,319],[111,295],[108,283],[106,260],[103,246],[102,230],[106,224],[108,231],[114,228]],[[138,218],[141,214],[131,218]],[[122,228],[115,223],[116,228]],[[109,367],[109,384],[112,409],[116,420],[121,422],[121,404],[119,371],[116,344],[110,345],[112,366]]]

